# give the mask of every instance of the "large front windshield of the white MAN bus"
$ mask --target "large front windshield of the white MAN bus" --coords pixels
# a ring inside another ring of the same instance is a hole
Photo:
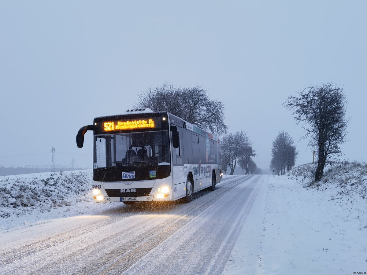
[[[94,168],[170,163],[168,131],[94,136]]]

